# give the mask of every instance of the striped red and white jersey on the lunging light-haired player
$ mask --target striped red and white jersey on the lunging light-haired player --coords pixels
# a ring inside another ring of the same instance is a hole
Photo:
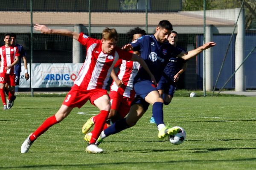
[[[118,59],[131,60],[132,54],[116,47],[111,54],[102,51],[102,42],[80,33],[78,41],[86,47],[87,54],[79,75],[74,81],[85,90],[105,89],[111,71]]]

